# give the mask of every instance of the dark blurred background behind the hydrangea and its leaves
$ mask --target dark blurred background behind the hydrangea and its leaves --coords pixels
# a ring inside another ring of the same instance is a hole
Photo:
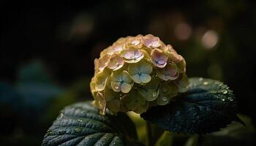
[[[241,114],[255,123],[255,1],[1,1],[0,6],[0,145],[41,145],[59,110],[92,99],[89,82],[99,52],[119,37],[137,34],[154,34],[173,45],[186,59],[189,77],[229,85]]]

